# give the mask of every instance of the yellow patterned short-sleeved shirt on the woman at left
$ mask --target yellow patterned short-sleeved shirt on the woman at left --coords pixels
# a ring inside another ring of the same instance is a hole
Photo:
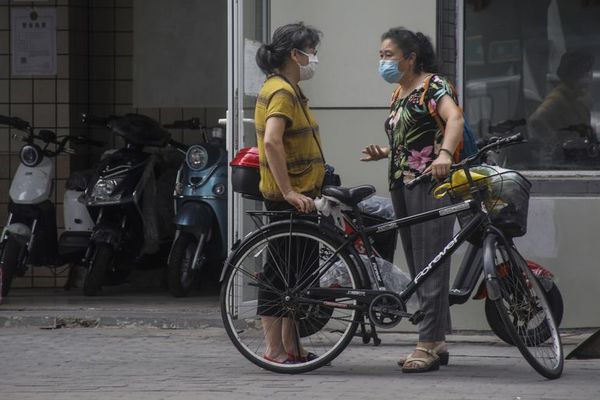
[[[319,126],[308,108],[307,99],[302,93],[300,96],[299,99],[294,88],[285,79],[271,76],[263,84],[256,100],[254,119],[260,159],[259,188],[268,200],[283,200],[265,156],[265,127],[267,119],[271,117],[280,117],[287,121],[283,147],[293,190],[311,197],[319,195],[321,191],[325,164],[319,150]],[[315,139],[319,141],[318,145]]]

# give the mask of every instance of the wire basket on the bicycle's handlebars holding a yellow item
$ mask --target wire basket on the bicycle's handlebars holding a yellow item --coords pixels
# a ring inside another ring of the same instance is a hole
[[[482,190],[483,205],[492,223],[510,237],[527,233],[527,213],[531,183],[520,173],[495,166],[473,167],[471,172],[480,174],[475,181]],[[452,202],[472,199],[468,183],[448,190]],[[464,227],[473,217],[471,212],[458,214],[458,222]]]

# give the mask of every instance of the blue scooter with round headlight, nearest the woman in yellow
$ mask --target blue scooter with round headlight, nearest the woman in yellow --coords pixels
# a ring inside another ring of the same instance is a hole
[[[197,118],[164,127],[200,130],[203,136],[201,144],[187,149],[174,191],[177,231],[167,281],[173,296],[184,297],[202,271],[221,265],[227,256],[227,151],[223,130],[209,131]]]

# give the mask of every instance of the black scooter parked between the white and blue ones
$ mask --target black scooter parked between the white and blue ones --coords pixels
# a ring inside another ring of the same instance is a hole
[[[107,127],[125,141],[124,148],[100,161],[83,195],[96,221],[85,255],[88,272],[83,283],[83,293],[93,296],[107,278],[119,283],[133,267],[164,265],[174,234],[170,192],[180,158],[170,161],[173,152],[160,151],[167,145],[187,147],[144,115],[99,118],[84,114],[83,121]]]

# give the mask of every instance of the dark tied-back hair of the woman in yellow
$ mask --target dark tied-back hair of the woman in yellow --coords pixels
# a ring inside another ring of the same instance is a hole
[[[272,74],[286,62],[293,49],[317,47],[321,36],[321,31],[304,22],[280,26],[273,32],[271,43],[263,44],[256,52],[256,64],[265,74]]]

